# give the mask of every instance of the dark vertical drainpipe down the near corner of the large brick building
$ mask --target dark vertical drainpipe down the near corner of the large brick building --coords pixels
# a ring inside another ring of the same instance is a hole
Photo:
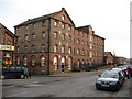
[[[47,43],[48,43],[48,66],[47,66],[47,75],[50,75],[50,51],[51,51],[51,18],[48,18],[48,41],[47,41]]]

